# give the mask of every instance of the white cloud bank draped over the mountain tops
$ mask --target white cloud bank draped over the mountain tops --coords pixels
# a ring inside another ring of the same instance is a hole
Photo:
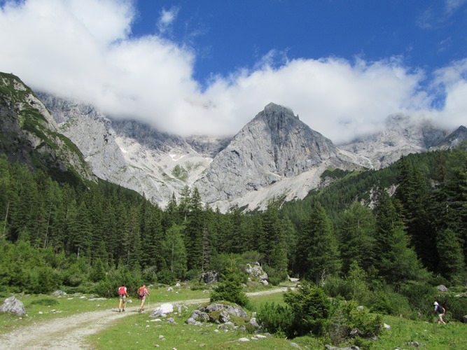
[[[193,80],[194,50],[160,36],[133,38],[134,15],[130,0],[7,1],[0,9],[0,71],[177,134],[235,134],[269,102],[293,109],[337,143],[378,130],[391,113],[439,114],[420,91],[424,73],[397,57],[289,61],[279,52],[274,65],[272,51],[253,70],[214,76],[202,91]],[[176,10],[162,11],[160,23],[175,18]],[[440,81],[449,76],[446,113],[460,113],[466,81],[449,69],[438,72]]]

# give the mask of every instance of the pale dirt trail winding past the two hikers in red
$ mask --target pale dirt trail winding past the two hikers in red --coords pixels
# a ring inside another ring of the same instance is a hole
[[[246,293],[248,296],[265,295],[284,292],[287,288],[277,288],[262,292]],[[172,304],[202,304],[209,302],[208,298],[181,300]],[[161,302],[152,304],[158,307]],[[127,308],[125,312],[115,309],[85,312],[64,318],[55,318],[40,324],[20,327],[12,332],[0,335],[0,349],[92,349],[86,343],[88,335],[95,334],[109,327],[113,321],[129,315],[134,315],[137,308]]]

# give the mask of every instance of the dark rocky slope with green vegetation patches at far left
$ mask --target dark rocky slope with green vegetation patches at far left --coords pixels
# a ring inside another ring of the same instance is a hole
[[[60,133],[53,116],[13,74],[0,73],[0,153],[59,181],[95,181],[81,151]]]

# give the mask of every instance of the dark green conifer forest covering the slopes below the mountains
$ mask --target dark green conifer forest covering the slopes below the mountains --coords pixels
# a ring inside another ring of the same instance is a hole
[[[0,293],[111,294],[122,280],[199,279],[235,257],[258,260],[272,283],[300,276],[388,313],[422,307],[435,283],[465,283],[466,151],[323,176],[336,179],[305,200],[221,214],[202,204],[197,188],[160,208],[104,181],[57,183],[3,155]]]

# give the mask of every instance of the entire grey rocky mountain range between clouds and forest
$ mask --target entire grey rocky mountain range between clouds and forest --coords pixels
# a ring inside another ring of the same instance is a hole
[[[335,146],[293,111],[271,103],[234,137],[180,137],[113,120],[88,104],[34,94],[15,76],[0,77],[1,151],[11,160],[31,166],[40,160],[85,179],[93,172],[162,208],[172,195],[196,187],[221,211],[233,205],[265,209],[272,197],[301,199],[326,186],[326,169],[379,169],[401,155],[446,149],[467,136],[466,127],[449,134],[428,120],[394,114],[383,132]]]

